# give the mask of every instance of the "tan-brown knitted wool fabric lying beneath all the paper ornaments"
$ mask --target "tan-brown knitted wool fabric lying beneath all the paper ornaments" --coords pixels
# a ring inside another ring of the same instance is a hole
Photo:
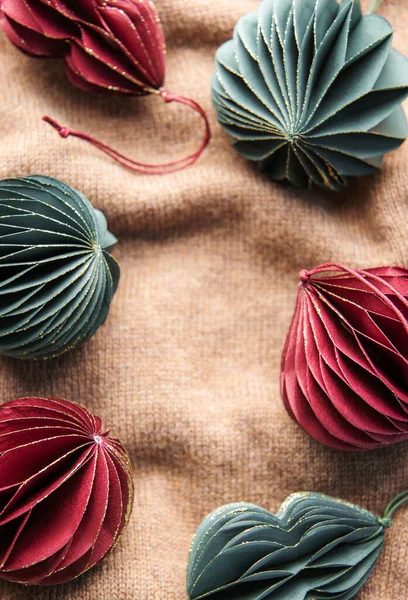
[[[198,163],[172,175],[131,173],[84,142],[62,140],[41,117],[162,162],[198,145],[195,113],[156,97],[95,98],[67,81],[62,61],[26,57],[0,35],[0,177],[50,175],[79,189],[105,213],[121,266],[94,338],[54,360],[1,358],[0,400],[84,404],[127,447],[135,482],[129,527],[100,565],[62,586],[0,581],[0,600],[186,600],[194,532],[221,504],[276,511],[289,494],[316,491],[380,513],[408,488],[408,443],[325,448],[291,421],[279,392],[299,270],[408,263],[408,142],[380,174],[343,192],[271,182],[233,150],[211,106],[215,51],[258,1],[156,5],[166,87],[198,100],[213,130]],[[380,13],[408,53],[408,0],[384,0]],[[407,598],[402,509],[358,600]]]

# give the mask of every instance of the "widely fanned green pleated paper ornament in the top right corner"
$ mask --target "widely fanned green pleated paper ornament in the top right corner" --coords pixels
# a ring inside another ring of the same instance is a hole
[[[216,54],[213,104],[235,149],[301,188],[374,173],[407,136],[392,35],[360,0],[264,0]]]

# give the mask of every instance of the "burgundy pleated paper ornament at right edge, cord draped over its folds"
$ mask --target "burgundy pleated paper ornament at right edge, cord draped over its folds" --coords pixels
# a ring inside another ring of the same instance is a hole
[[[408,269],[300,273],[282,357],[291,417],[319,442],[369,450],[408,438]]]

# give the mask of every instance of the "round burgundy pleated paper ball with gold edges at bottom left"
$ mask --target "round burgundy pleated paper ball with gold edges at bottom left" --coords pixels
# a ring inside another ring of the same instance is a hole
[[[116,544],[132,509],[129,457],[67,400],[0,406],[0,578],[70,581]]]

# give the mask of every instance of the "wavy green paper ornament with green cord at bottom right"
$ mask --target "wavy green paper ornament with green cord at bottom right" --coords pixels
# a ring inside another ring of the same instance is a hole
[[[394,512],[382,518],[314,493],[290,496],[277,515],[254,504],[211,513],[193,541],[189,600],[351,600],[370,576]]]

